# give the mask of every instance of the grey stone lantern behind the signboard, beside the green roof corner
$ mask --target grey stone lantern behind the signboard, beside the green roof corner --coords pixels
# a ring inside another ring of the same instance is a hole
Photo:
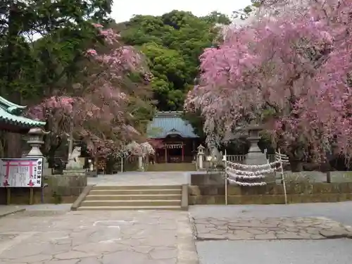
[[[27,140],[27,144],[30,145],[31,149],[25,157],[43,157],[43,175],[48,176],[52,175],[51,168],[49,168],[48,160],[43,156],[42,151],[40,151],[40,147],[44,144],[43,137],[44,134],[49,134],[50,132],[45,132],[42,128],[34,127],[31,128],[28,132],[29,139]]]

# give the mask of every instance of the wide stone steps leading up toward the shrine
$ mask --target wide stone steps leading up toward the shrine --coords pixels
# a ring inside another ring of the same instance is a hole
[[[181,210],[181,185],[94,186],[77,210]]]

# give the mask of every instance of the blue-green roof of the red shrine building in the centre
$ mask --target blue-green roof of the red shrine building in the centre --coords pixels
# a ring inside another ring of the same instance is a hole
[[[186,138],[198,137],[191,124],[182,119],[182,112],[157,112],[148,125],[147,134],[149,138],[155,139],[163,139],[170,134]]]

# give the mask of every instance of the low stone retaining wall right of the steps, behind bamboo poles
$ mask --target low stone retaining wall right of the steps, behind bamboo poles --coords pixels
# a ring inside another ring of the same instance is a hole
[[[279,204],[284,203],[281,184],[258,187],[229,185],[229,204]],[[352,182],[287,184],[288,203],[337,202],[352,200]],[[225,204],[224,184],[189,186],[189,205]]]

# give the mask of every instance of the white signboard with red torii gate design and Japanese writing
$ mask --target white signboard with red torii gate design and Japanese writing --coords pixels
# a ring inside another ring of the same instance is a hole
[[[1,158],[1,187],[42,187],[43,158]]]

